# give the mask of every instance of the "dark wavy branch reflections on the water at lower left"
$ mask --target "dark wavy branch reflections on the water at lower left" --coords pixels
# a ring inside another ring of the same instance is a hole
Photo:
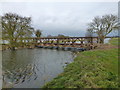
[[[32,78],[37,79],[36,70],[38,70],[35,64],[28,64],[23,68],[17,68],[12,71],[5,70],[3,72],[3,86],[7,88],[11,87],[7,84],[15,85],[18,83],[23,83],[25,81],[30,81]]]

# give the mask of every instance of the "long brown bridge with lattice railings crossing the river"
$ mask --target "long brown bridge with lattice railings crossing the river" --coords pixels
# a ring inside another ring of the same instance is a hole
[[[105,37],[114,38],[114,37]],[[90,50],[99,44],[98,37],[40,37],[29,38],[38,48],[67,49],[67,50]]]

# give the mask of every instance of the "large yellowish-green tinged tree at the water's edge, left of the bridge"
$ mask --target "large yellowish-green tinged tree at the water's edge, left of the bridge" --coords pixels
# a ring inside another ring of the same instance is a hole
[[[30,37],[33,33],[31,18],[6,13],[2,16],[2,37],[7,39],[12,49],[22,37]]]

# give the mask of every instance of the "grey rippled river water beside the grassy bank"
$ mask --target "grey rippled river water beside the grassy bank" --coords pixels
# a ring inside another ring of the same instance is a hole
[[[73,53],[49,49],[3,51],[4,84],[14,88],[40,88],[63,72]]]

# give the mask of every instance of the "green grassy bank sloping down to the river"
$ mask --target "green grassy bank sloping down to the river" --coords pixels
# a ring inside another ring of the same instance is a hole
[[[110,40],[110,44],[117,45]],[[44,88],[117,88],[118,49],[97,49],[77,54],[74,62]]]

